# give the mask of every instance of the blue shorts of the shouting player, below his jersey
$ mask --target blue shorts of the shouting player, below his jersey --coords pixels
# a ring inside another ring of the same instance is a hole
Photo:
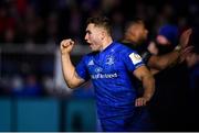
[[[105,132],[147,132],[154,131],[154,122],[146,108],[136,108],[130,117],[101,119],[102,130]]]

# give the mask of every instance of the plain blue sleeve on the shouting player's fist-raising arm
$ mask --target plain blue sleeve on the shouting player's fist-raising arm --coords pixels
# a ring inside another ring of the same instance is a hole
[[[75,70],[76,70],[77,75],[81,78],[83,78],[84,80],[90,79],[90,75],[88,75],[87,67],[86,67],[86,57],[85,56],[77,64],[77,66],[75,67]]]

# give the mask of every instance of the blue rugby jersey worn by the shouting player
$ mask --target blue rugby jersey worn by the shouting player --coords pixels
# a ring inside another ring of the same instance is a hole
[[[135,51],[116,42],[82,58],[76,73],[85,80],[92,79],[101,119],[133,115],[137,93],[132,76],[142,65]]]

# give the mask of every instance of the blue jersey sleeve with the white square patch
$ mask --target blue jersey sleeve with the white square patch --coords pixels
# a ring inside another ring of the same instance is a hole
[[[145,65],[139,54],[134,51],[126,52],[123,54],[122,58],[129,71],[134,71],[139,66]]]

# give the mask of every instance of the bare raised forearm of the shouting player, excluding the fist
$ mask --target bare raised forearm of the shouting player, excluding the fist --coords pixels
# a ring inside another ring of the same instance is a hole
[[[70,88],[76,88],[77,86],[83,84],[84,80],[77,76],[75,71],[75,67],[71,62],[70,54],[62,54],[61,59],[62,59],[63,76],[67,86]]]

